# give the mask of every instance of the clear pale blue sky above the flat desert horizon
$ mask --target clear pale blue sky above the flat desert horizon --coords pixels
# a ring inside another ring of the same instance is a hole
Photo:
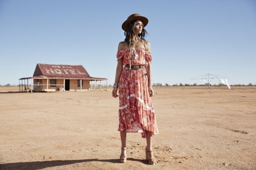
[[[200,84],[191,78],[210,73],[256,84],[255,0],[0,0],[0,84],[19,84],[37,63],[83,65],[113,84],[133,13],[149,19],[153,83]]]

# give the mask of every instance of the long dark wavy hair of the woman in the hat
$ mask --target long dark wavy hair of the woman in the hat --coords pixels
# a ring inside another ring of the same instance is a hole
[[[127,27],[126,27],[126,31],[124,33],[125,35],[125,42],[128,44],[128,45],[131,45],[133,46],[133,38],[136,37],[136,32],[135,32],[135,24],[136,24],[136,20],[133,20],[131,21]],[[148,35],[146,29],[144,29],[144,27],[142,28],[142,32],[139,34],[139,38],[141,40],[145,40],[144,37],[145,35]],[[130,44],[131,43],[131,44]]]

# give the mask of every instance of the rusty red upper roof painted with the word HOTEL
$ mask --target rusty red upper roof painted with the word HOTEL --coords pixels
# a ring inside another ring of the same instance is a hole
[[[89,78],[90,75],[82,65],[49,65],[38,63],[33,76]]]

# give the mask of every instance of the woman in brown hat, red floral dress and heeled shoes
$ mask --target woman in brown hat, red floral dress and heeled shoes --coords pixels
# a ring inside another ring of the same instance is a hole
[[[127,160],[127,132],[141,133],[146,138],[146,159],[149,164],[156,162],[152,152],[152,135],[158,134],[158,127],[150,99],[154,91],[151,86],[151,47],[150,42],[144,39],[147,33],[144,27],[147,23],[148,19],[144,16],[130,15],[122,24],[125,41],[118,45],[112,96],[119,96],[121,162]]]

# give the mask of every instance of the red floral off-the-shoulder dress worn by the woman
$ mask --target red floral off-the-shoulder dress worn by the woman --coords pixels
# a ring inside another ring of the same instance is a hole
[[[146,65],[152,61],[151,53],[144,48],[131,50],[131,65]],[[130,65],[129,48],[119,50],[117,59],[123,58],[123,65]],[[146,68],[133,70],[123,67],[119,79],[119,131],[137,132],[146,138],[146,130],[158,134],[155,111],[148,93]]]

